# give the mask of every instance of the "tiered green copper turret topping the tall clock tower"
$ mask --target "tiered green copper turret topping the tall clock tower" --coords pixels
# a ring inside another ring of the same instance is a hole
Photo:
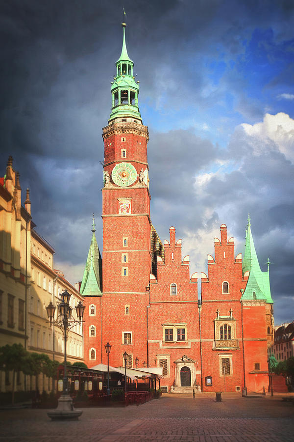
[[[111,123],[116,118],[136,118],[142,122],[138,107],[139,82],[135,82],[133,74],[134,63],[130,59],[125,43],[125,27],[123,27],[122,54],[116,62],[116,76],[111,82],[112,109],[108,120]]]

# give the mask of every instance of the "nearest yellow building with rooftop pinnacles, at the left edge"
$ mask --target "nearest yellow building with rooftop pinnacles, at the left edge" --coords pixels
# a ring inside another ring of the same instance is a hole
[[[9,157],[0,178],[0,346],[21,343],[26,348],[26,306],[30,284],[30,201],[21,204],[19,173]],[[1,391],[11,389],[11,373],[0,373]],[[23,376],[17,376],[22,385]]]

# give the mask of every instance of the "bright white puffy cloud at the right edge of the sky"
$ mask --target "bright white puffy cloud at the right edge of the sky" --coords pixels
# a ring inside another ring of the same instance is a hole
[[[248,141],[251,141],[255,155],[262,155],[267,150],[277,150],[294,164],[294,120],[288,114],[266,113],[262,122],[241,126],[245,134],[251,137]]]

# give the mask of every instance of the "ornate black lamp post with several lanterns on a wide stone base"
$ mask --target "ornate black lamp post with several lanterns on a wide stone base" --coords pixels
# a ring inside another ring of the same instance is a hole
[[[54,318],[56,307],[50,301],[49,305],[46,307],[47,315],[49,318],[50,326],[53,324],[63,331],[64,335],[64,377],[63,377],[63,388],[62,388],[62,396],[58,400],[58,407],[56,410],[49,412],[48,415],[52,420],[57,419],[74,419],[78,418],[82,414],[82,411],[73,409],[73,400],[69,395],[68,391],[68,377],[67,377],[67,336],[70,329],[72,329],[75,325],[81,325],[85,306],[81,301],[76,305],[75,312],[77,319],[73,318],[72,312],[73,308],[70,306],[71,294],[64,290],[64,292],[60,293],[61,302],[57,305],[57,318]]]

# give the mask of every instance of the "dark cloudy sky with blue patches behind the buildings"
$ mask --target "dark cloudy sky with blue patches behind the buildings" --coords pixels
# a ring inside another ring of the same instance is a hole
[[[174,225],[191,274],[207,272],[221,223],[244,251],[249,212],[275,322],[292,321],[292,0],[1,0],[0,175],[12,155],[55,267],[81,280],[93,212],[102,248],[101,128],[123,6],[157,232]]]

